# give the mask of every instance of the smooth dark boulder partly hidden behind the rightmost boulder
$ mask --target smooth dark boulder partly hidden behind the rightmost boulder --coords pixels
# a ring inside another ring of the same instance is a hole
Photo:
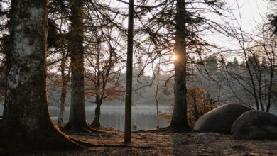
[[[253,109],[243,104],[224,104],[201,116],[196,121],[194,130],[229,134],[234,121],[250,110]]]

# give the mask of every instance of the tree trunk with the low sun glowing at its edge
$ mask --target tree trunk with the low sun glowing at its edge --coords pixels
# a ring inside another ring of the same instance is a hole
[[[186,88],[186,27],[185,27],[185,0],[177,1],[176,33],[175,33],[175,84],[174,109],[170,127],[188,129],[187,121],[187,88]]]

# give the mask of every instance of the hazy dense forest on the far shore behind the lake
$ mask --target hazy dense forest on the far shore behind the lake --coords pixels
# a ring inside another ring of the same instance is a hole
[[[254,56],[257,57],[257,56]],[[254,57],[249,58],[249,62],[251,63],[251,59],[254,60]],[[268,92],[266,87],[268,87],[270,82],[270,69],[267,67],[265,58],[258,57],[255,58],[255,62],[257,65],[253,65],[254,69],[261,69],[261,101],[263,104],[266,104],[268,101]],[[253,61],[252,60],[252,61]],[[222,57],[216,57],[215,55],[211,55],[209,57],[205,57],[203,60],[204,63],[198,63],[190,65],[190,77],[188,81],[188,89],[200,89],[203,94],[203,98],[209,99],[209,104],[221,103],[227,104],[232,102],[243,103],[255,108],[255,99],[254,96],[249,92],[251,90],[251,86],[249,86],[249,82],[251,82],[251,78],[248,76],[248,70],[244,62],[238,62],[237,57],[234,57],[233,61],[226,62],[222,60]],[[192,67],[193,66],[193,67]],[[192,69],[193,68],[193,69]],[[142,105],[155,105],[155,97],[156,97],[156,87],[158,84],[158,97],[159,104],[168,105],[172,104],[173,101],[173,81],[170,79],[173,73],[160,71],[159,72],[159,82],[157,82],[158,75],[158,65],[154,67],[153,73],[151,74],[142,74],[138,77],[141,72],[139,67],[135,68],[134,75],[136,77],[133,78],[134,85],[134,105],[142,104]],[[92,73],[87,73],[87,75]],[[48,75],[48,99],[50,106],[60,106],[60,94],[61,94],[61,78],[60,74],[51,73]],[[125,84],[125,73],[122,72],[120,77],[118,78],[118,84],[114,87],[114,81],[108,82],[107,86],[111,87],[108,89],[112,89],[113,92],[110,94],[107,99],[104,100],[104,104],[123,104],[124,101],[124,86]],[[170,79],[170,80],[168,80]],[[255,82],[258,82],[258,79],[255,79]],[[94,84],[90,79],[85,80],[85,88],[86,88],[86,105],[93,105],[93,101],[95,100],[93,94]],[[247,83],[248,82],[248,83]],[[273,87],[276,86],[276,75],[273,77],[274,84]],[[165,85],[166,84],[166,85]],[[67,82],[67,86],[70,86],[70,82]],[[275,89],[273,89],[275,90]],[[271,97],[273,100],[272,109],[276,106],[276,93],[273,91],[273,96]],[[121,102],[119,102],[121,101]],[[70,88],[67,89],[67,100],[66,105],[70,106]],[[266,109],[266,105],[263,105],[264,109]],[[272,111],[274,113],[274,111]]]

